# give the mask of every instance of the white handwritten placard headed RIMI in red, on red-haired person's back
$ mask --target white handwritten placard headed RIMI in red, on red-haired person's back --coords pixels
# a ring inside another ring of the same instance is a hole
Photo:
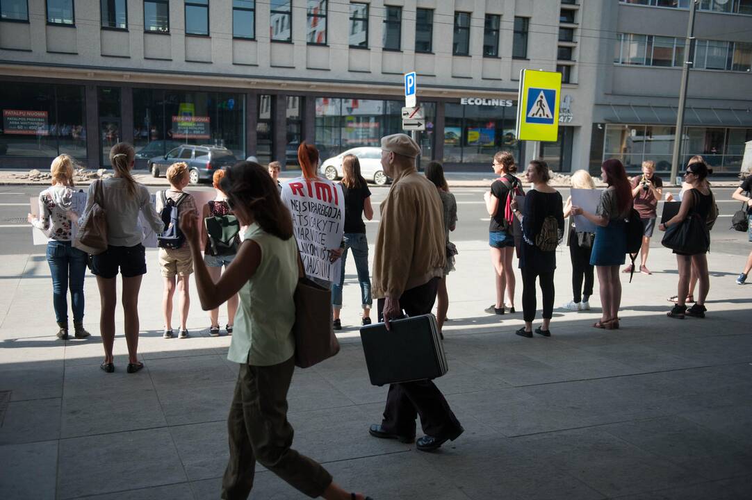
[[[344,232],[344,196],[339,184],[298,177],[282,185],[282,201],[293,215],[293,229],[305,275],[337,282],[341,262],[329,250],[340,247]]]

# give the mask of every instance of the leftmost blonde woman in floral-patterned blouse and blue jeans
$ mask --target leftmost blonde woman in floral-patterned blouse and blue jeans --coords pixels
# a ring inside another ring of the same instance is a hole
[[[74,248],[72,221],[78,220],[73,206],[73,159],[60,155],[53,159],[52,186],[39,193],[39,218],[28,220],[47,235],[47,263],[52,274],[53,308],[59,330],[57,338],[68,339],[68,283],[71,288],[73,328],[76,338],[86,338],[83,329],[83,278],[86,276],[86,253]]]

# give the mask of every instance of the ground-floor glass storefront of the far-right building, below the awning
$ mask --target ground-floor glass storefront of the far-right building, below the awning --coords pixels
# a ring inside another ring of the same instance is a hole
[[[628,171],[638,171],[643,160],[651,159],[657,171],[670,171],[674,135],[672,126],[606,124],[603,159],[618,158]],[[738,172],[752,129],[685,127],[682,141],[682,165],[702,155],[716,173]]]

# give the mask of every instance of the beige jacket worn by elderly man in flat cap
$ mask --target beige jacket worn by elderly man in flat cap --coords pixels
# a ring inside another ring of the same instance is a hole
[[[436,186],[417,171],[397,177],[381,202],[376,236],[374,298],[399,298],[405,290],[444,275],[444,209]]]

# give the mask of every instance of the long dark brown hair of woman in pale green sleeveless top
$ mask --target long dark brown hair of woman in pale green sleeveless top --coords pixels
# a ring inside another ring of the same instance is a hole
[[[220,190],[231,206],[243,205],[265,232],[284,241],[293,237],[293,217],[267,168],[256,162],[235,163],[226,169]]]

